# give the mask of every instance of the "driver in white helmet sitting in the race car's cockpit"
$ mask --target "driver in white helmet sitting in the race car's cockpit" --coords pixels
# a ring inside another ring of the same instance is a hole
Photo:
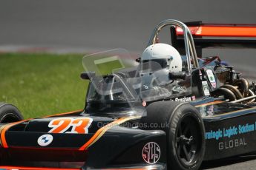
[[[171,95],[183,93],[184,86],[172,84],[169,72],[182,72],[183,61],[180,53],[171,45],[157,43],[147,47],[142,53],[140,61],[142,65],[142,92],[148,95]]]

